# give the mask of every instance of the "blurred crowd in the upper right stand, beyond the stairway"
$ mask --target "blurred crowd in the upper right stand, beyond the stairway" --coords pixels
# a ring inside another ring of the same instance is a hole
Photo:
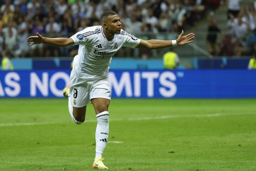
[[[208,27],[208,52],[214,56],[252,56],[256,45],[256,1],[243,6],[242,0],[227,0],[228,33],[221,33],[217,22],[211,17]]]

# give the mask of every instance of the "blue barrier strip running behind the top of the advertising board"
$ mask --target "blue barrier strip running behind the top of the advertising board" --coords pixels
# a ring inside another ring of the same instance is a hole
[[[16,70],[29,69],[71,69],[73,58],[67,59],[11,59]],[[182,58],[180,59],[182,60]],[[193,59],[194,69],[247,69],[249,58],[247,59]],[[113,58],[111,69],[163,69],[162,59],[131,59]],[[178,69],[185,69],[182,65]]]

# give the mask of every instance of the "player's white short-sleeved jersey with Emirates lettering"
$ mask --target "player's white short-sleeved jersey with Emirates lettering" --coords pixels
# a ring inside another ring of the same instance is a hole
[[[81,79],[105,78],[108,74],[111,57],[122,47],[135,48],[140,39],[121,29],[110,41],[106,39],[102,26],[92,26],[71,36],[74,45],[79,45],[78,61],[73,71]]]

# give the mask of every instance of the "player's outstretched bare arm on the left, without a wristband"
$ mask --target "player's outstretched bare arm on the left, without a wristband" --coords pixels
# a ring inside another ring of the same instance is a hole
[[[71,38],[47,38],[43,37],[39,33],[36,33],[37,36],[30,36],[27,38],[27,41],[32,42],[29,46],[40,44],[40,43],[47,43],[52,46],[57,47],[66,47],[68,45],[73,45],[74,40]]]

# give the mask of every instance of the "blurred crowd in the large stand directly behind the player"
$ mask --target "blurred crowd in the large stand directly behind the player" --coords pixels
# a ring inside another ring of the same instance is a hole
[[[1,0],[0,0],[1,1]],[[193,26],[206,9],[220,0],[2,0],[0,4],[0,54],[13,57],[74,56],[77,46],[28,46],[36,32],[69,38],[88,26],[100,25],[104,11],[114,10],[122,28],[133,35],[180,32]]]

